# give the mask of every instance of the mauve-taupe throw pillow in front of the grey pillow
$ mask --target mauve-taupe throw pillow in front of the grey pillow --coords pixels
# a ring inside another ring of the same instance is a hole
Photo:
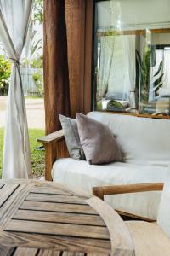
[[[82,113],[77,113],[77,125],[82,148],[89,164],[122,161],[116,138],[106,125]]]

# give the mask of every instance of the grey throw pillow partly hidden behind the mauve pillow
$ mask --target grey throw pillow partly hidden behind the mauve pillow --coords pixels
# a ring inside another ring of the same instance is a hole
[[[64,131],[65,143],[70,156],[76,160],[85,160],[78,134],[77,119],[67,118],[64,115],[59,114],[59,120]]]

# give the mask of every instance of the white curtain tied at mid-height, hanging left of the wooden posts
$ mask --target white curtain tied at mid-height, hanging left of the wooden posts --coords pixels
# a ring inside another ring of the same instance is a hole
[[[33,0],[0,0],[0,37],[13,61],[3,149],[3,178],[31,177],[26,105],[20,78],[20,55]]]

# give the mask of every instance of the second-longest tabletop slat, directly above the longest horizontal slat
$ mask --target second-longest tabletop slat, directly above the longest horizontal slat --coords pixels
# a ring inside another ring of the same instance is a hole
[[[43,222],[87,224],[94,226],[105,226],[100,216],[65,213],[65,212],[42,212],[19,210],[14,214],[14,219],[37,220]]]

